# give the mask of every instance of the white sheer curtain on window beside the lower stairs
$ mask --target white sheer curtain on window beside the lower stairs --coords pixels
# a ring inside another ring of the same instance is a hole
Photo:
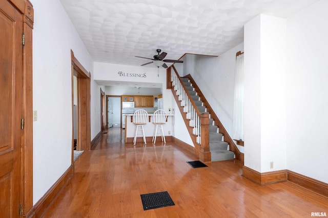
[[[233,116],[233,139],[243,140],[243,109],[244,109],[244,54],[236,58],[235,69],[235,96],[234,96],[234,116]]]

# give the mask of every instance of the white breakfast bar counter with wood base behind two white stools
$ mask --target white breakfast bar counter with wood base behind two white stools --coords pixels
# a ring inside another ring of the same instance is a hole
[[[125,120],[125,142],[126,143],[133,143],[133,138],[135,135],[135,130],[136,130],[136,126],[133,124],[133,113],[128,113],[128,114],[124,114],[126,116],[126,120]],[[148,113],[148,123],[144,126],[144,130],[145,130],[145,135],[146,135],[146,141],[147,142],[152,142],[152,137],[153,137],[153,133],[154,133],[154,128],[155,125],[153,124],[153,119],[151,118],[152,116],[154,116],[153,113]],[[167,120],[166,120],[166,124],[163,125],[163,131],[165,134],[165,138],[166,141],[170,141],[170,139],[172,140],[172,123],[173,123],[173,117],[174,114],[168,114]],[[137,142],[141,142],[143,141],[142,137],[138,137],[137,138]],[[161,142],[160,136],[157,137],[156,139],[156,144],[157,142]]]

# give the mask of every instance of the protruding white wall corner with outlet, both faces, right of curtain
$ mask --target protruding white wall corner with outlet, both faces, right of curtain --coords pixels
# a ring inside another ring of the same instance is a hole
[[[257,16],[244,27],[244,45],[244,165],[286,169],[286,20]]]

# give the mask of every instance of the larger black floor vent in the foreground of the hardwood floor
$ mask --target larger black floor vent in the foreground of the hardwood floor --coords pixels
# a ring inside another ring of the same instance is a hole
[[[167,191],[140,195],[144,210],[175,205]]]

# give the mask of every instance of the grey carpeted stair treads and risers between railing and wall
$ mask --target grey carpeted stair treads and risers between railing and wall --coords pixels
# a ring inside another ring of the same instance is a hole
[[[197,95],[195,88],[190,83],[190,80],[188,78],[181,78],[181,81],[185,84],[186,89],[191,95],[192,101],[194,101],[199,112],[207,112],[206,107],[203,106],[203,102],[200,101],[200,98]],[[211,161],[234,159],[235,153],[228,150],[228,142],[222,140],[223,135],[219,133],[218,126],[214,125],[213,118],[210,118],[209,124]]]

